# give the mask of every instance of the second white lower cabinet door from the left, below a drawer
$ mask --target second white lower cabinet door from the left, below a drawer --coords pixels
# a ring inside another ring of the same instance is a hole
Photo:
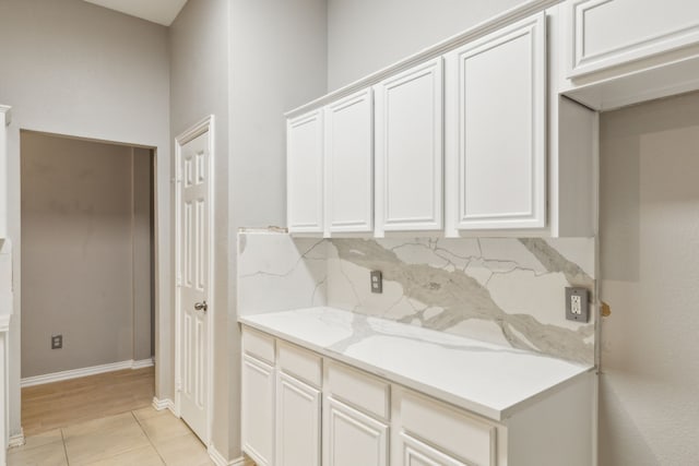
[[[280,372],[276,466],[320,466],[320,391]]]

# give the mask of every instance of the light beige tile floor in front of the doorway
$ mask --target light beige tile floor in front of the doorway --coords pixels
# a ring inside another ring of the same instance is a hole
[[[169,410],[152,407],[27,437],[9,466],[209,466],[199,438]]]

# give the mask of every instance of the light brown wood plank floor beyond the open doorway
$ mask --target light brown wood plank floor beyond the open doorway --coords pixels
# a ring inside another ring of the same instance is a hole
[[[154,368],[127,369],[22,389],[24,435],[150,406]]]

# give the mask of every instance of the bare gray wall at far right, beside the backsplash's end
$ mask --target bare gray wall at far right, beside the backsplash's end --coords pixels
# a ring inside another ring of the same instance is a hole
[[[699,94],[601,118],[600,465],[699,457]]]

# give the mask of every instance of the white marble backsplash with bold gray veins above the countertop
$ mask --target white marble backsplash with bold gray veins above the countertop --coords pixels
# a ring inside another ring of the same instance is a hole
[[[565,287],[594,289],[593,238],[322,240],[242,231],[238,254],[242,315],[330,306],[594,360],[594,322],[567,321],[564,308]],[[371,270],[383,274],[380,295],[370,291]]]

